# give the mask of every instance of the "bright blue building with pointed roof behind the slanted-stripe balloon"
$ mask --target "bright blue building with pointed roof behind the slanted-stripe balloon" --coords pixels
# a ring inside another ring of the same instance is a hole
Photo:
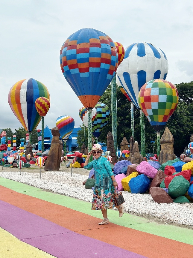
[[[80,130],[80,127],[74,128],[71,135],[69,136],[68,140],[66,141],[66,150],[67,151],[78,151],[78,144],[77,144],[77,132]],[[44,128],[44,143],[51,143],[52,139],[51,129],[48,128],[46,125]],[[62,138],[60,137],[60,140]]]

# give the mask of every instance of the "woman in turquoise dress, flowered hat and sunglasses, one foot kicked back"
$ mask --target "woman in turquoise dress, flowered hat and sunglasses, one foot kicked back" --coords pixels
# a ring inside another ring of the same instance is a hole
[[[101,210],[103,214],[103,221],[99,225],[108,224],[107,209],[116,207],[119,211],[119,217],[123,216],[123,205],[115,206],[114,192],[115,187],[118,186],[110,166],[110,162],[101,157],[103,150],[100,144],[94,144],[91,152],[88,153],[84,168],[94,168],[95,170],[95,190],[92,199],[92,210]],[[90,156],[93,155],[95,160],[88,164]]]

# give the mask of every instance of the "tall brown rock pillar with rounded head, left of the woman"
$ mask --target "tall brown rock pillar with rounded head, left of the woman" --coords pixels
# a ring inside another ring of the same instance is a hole
[[[44,169],[46,171],[58,171],[60,169],[60,161],[62,156],[62,147],[60,145],[60,133],[57,127],[51,129],[53,135],[48,158],[45,162]]]

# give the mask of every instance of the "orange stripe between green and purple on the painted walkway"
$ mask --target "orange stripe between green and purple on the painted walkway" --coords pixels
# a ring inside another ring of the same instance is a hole
[[[190,244],[113,223],[100,226],[98,225],[98,218],[82,212],[17,193],[3,186],[0,186],[0,191],[0,199],[4,202],[34,213],[79,234],[113,244],[148,258],[193,257],[193,246]]]

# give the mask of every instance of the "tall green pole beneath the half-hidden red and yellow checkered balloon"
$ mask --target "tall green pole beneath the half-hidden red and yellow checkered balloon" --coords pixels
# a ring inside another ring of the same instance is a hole
[[[116,74],[111,81],[111,125],[114,140],[114,148],[117,151],[117,87]]]

